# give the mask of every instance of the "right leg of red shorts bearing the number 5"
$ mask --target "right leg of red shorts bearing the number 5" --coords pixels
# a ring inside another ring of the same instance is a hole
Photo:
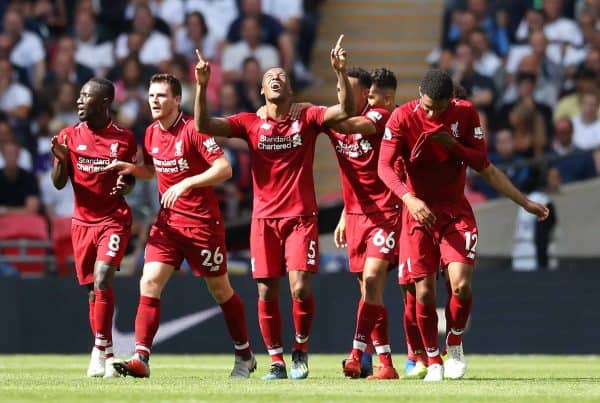
[[[316,273],[319,269],[319,225],[317,217],[292,217],[282,226],[287,271]]]

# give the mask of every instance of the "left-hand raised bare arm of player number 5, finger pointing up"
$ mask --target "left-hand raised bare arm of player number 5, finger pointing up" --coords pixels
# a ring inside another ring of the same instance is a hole
[[[202,53],[196,49],[196,98],[194,99],[194,125],[196,130],[212,136],[229,137],[231,127],[227,119],[211,118],[208,116],[206,91],[210,79],[210,64],[204,60]]]

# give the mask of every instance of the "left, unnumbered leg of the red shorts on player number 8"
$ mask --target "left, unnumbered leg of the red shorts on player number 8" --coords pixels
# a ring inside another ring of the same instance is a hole
[[[71,225],[71,241],[75,271],[80,285],[94,283],[94,264],[96,263],[96,241],[98,227]]]

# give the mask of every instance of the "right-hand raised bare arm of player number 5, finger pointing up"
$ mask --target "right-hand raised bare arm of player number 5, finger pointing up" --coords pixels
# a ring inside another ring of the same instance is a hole
[[[340,35],[335,48],[331,49],[331,67],[337,77],[338,105],[327,108],[324,123],[332,125],[336,122],[348,119],[356,114],[354,96],[350,88],[350,81],[346,74],[346,49],[342,47],[344,35]]]

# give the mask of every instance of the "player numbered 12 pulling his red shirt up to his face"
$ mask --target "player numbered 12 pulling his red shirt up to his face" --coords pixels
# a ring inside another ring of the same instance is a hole
[[[450,76],[428,71],[419,99],[396,108],[388,120],[379,157],[379,176],[404,202],[400,261],[415,281],[416,316],[428,356],[425,381],[458,379],[467,365],[462,333],[471,312],[471,277],[477,225],[464,196],[467,165],[494,188],[539,219],[546,207],[527,199],[487,159],[486,142],[474,106],[453,98]],[[397,174],[403,165],[405,180]],[[436,273],[447,269],[452,287],[445,367],[438,349]]]

